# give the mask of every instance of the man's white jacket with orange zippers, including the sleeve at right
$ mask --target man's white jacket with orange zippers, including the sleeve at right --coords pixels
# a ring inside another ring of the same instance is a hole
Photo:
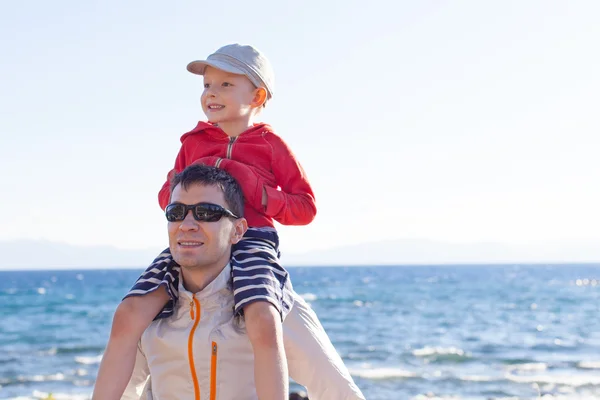
[[[231,267],[204,290],[179,285],[174,314],[142,335],[122,400],[256,400],[254,354],[244,322],[233,316]],[[359,400],[354,384],[316,314],[297,294],[283,323],[290,376],[310,400]]]

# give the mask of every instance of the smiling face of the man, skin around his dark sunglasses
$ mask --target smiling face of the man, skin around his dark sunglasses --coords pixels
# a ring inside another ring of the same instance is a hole
[[[177,185],[171,194],[171,203],[174,202],[186,205],[205,202],[228,208],[220,188],[202,184],[189,185],[187,190]],[[189,270],[223,268],[229,262],[231,245],[244,233],[239,227],[241,223],[241,219],[225,216],[216,222],[196,221],[192,211],[188,211],[183,221],[168,223],[173,259]]]

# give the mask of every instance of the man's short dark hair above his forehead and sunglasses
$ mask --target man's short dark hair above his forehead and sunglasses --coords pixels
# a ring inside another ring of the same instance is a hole
[[[222,169],[203,164],[192,164],[171,178],[171,193],[179,184],[185,190],[193,184],[216,186],[223,191],[229,210],[237,216],[244,216],[242,187],[233,176]]]

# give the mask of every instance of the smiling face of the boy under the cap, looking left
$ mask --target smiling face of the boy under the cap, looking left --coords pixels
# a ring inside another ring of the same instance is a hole
[[[206,67],[202,110],[210,122],[236,122],[250,118],[256,108],[257,89],[244,75]]]

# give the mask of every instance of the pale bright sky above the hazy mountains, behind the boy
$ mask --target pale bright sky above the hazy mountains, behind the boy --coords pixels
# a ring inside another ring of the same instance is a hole
[[[283,251],[600,244],[600,2],[0,3],[0,241],[163,247],[157,193],[204,119],[187,63],[270,59],[262,120],[312,183]],[[35,251],[35,249],[32,249]]]

